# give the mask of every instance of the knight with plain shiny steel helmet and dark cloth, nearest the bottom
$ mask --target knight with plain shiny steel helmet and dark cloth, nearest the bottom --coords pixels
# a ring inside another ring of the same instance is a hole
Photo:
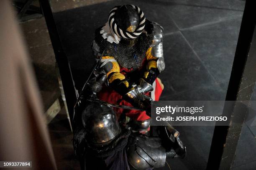
[[[92,89],[95,89],[92,87]],[[167,158],[186,155],[179,132],[158,127],[158,137],[120,127],[113,108],[102,101],[87,101],[81,114],[82,128],[74,132],[74,150],[81,170],[152,170]]]

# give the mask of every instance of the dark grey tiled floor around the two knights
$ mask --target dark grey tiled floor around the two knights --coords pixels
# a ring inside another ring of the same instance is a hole
[[[109,10],[120,4],[138,5],[146,18],[164,27],[166,69],[160,75],[165,85],[161,100],[225,100],[243,15],[242,0],[116,0],[55,13],[77,89],[94,63],[90,43],[95,28],[106,23]],[[168,160],[172,170],[205,169],[214,127],[176,128],[187,145],[187,157]],[[256,169],[255,131],[243,126],[234,170]]]

